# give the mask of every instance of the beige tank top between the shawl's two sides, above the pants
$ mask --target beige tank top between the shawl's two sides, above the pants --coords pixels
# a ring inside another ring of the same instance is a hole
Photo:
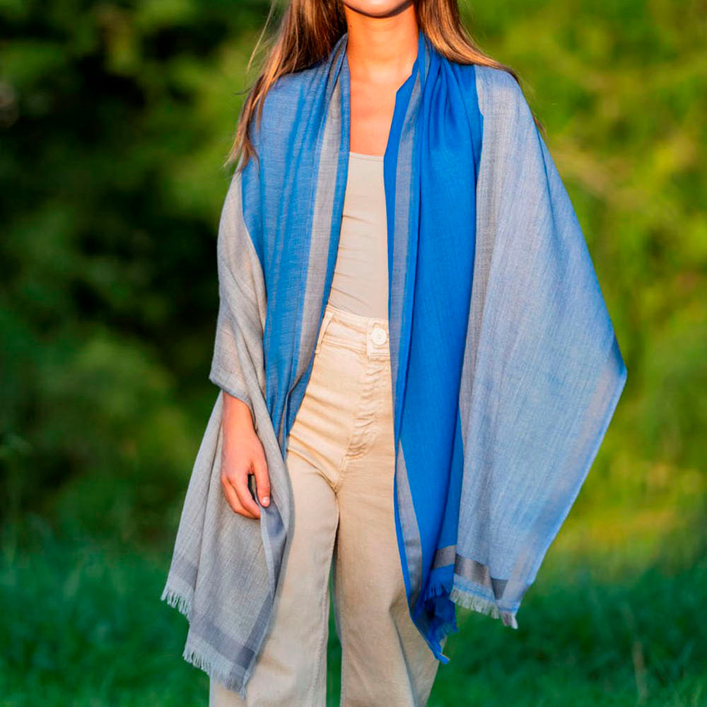
[[[388,317],[388,230],[382,155],[349,153],[329,302],[363,317]]]

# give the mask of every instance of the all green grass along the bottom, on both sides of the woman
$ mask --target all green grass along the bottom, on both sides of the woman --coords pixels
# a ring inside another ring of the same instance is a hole
[[[6,543],[0,570],[0,703],[206,705],[207,676],[181,658],[186,621],[159,601],[166,554],[61,541],[33,522],[41,539],[25,551]],[[652,566],[623,572],[553,554],[517,631],[459,609],[429,707],[707,704],[707,559],[670,550],[674,542]],[[333,616],[328,659],[337,705]]]

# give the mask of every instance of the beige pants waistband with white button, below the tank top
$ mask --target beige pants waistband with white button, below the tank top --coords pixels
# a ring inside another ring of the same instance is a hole
[[[316,353],[325,338],[363,351],[367,356],[390,356],[387,317],[364,317],[327,303],[319,328]]]

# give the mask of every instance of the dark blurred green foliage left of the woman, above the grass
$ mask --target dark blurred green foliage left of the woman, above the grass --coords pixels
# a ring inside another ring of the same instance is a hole
[[[155,539],[216,395],[220,165],[267,7],[0,11],[2,510]]]

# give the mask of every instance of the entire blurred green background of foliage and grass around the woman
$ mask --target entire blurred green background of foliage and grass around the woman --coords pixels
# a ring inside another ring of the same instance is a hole
[[[0,1],[1,705],[207,703],[159,594],[267,11]],[[460,609],[430,706],[707,705],[707,2],[464,11],[546,124],[629,373],[519,631]]]

